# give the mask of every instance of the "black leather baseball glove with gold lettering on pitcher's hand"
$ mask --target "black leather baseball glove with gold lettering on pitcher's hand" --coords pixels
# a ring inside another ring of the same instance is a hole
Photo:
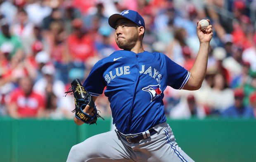
[[[92,100],[92,96],[83,87],[80,80],[74,79],[71,82],[71,87],[69,88],[69,91],[65,92],[65,93],[67,95],[70,92],[73,92],[73,95],[75,98],[74,99],[75,109],[72,112],[76,112],[76,114],[75,114],[76,118],[78,118],[82,122],[85,122],[86,124],[96,123],[97,118],[101,117],[101,116],[99,115],[99,113],[97,113],[97,109],[96,109],[94,101]],[[83,109],[87,105],[89,105],[91,108],[93,108],[93,110],[92,110],[93,115],[88,115],[87,113],[83,112]]]

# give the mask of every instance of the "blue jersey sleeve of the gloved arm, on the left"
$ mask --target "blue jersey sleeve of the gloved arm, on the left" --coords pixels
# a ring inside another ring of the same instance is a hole
[[[103,80],[102,60],[95,63],[90,74],[83,83],[83,87],[92,95],[99,96],[103,93],[106,84]]]

